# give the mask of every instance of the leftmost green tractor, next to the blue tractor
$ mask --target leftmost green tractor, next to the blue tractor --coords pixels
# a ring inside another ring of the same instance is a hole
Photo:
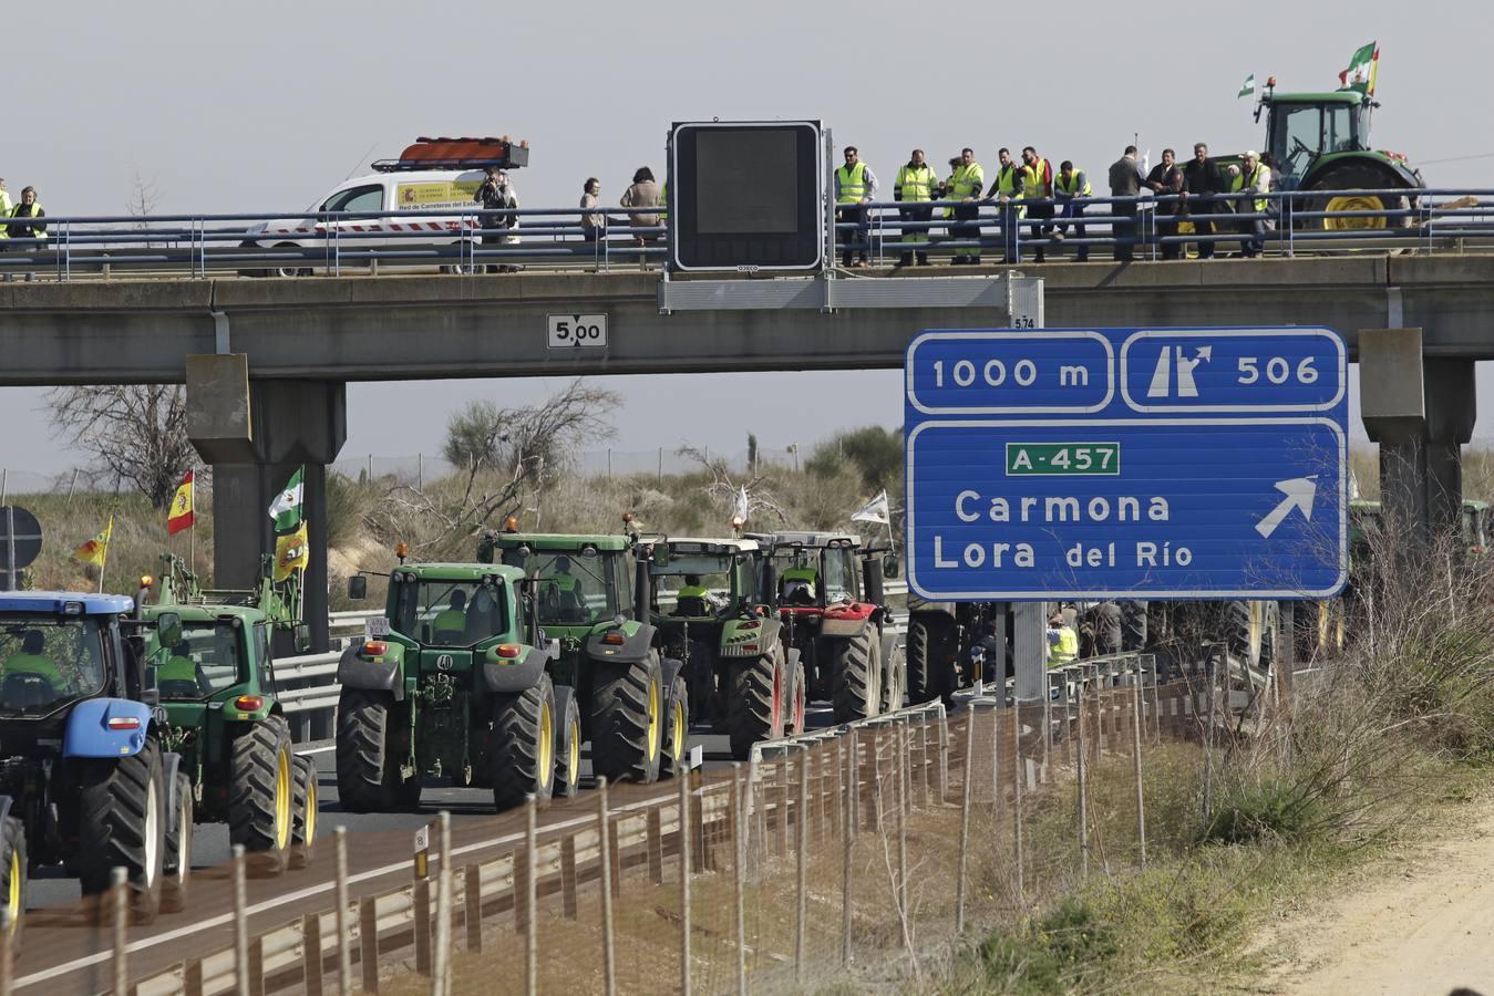
[[[251,853],[260,874],[302,868],[317,835],[317,768],[291,747],[290,724],[275,696],[270,653],[276,630],[296,635],[300,624],[300,572],[273,579],[266,557],[254,590],[208,590],[175,555],[151,605],[151,578],[142,578],[137,603],[145,620],[146,666],[155,669],[166,714],[161,744],[181,754],[184,818],[167,835],[166,874],[182,887],[166,893],[167,906],[185,900],[193,823],[227,823],[229,841]],[[161,627],[161,618],[179,620]]]

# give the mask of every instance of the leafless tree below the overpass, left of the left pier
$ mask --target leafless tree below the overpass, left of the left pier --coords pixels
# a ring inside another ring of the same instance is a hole
[[[166,508],[196,452],[187,439],[187,391],[179,384],[58,387],[46,393],[52,438]]]

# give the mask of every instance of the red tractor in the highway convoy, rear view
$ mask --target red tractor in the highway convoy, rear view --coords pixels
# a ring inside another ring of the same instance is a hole
[[[907,663],[881,590],[896,576],[896,557],[847,533],[754,539],[771,551],[765,594],[799,651],[810,697],[834,703],[837,723],[901,709]]]

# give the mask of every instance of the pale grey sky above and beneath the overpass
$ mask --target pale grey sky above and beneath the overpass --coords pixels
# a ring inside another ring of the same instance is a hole
[[[935,163],[970,145],[991,169],[998,146],[1031,143],[1098,181],[1132,137],[1153,158],[1195,140],[1258,146],[1236,97],[1246,76],[1330,90],[1377,40],[1374,145],[1433,185],[1494,187],[1487,40],[1455,28],[1485,22],[1482,1],[1427,0],[1415,18],[1383,0],[1119,6],[1070,0],[1034,21],[973,4],[910,24],[884,0],[36,4],[7,54],[7,76],[28,84],[7,102],[0,176],[34,184],[54,215],[123,214],[140,184],[158,212],[294,212],[417,136],[509,134],[532,148],[514,173],[526,206],[569,206],[592,175],[616,203],[633,169],[660,170],[672,121],[817,118],[884,190],[914,145]],[[748,430],[786,446],[901,420],[896,372],[602,382],[624,399],[614,445],[633,449],[737,449]],[[1481,366],[1479,382],[1494,373]],[[557,387],[417,382],[390,406],[351,385],[344,452],[435,452],[466,400]],[[75,466],[49,439],[42,391],[0,388],[0,464]],[[1478,436],[1494,438],[1494,420]]]

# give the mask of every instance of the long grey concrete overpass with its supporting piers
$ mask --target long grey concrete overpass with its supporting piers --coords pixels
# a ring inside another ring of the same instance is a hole
[[[1386,478],[1398,482],[1392,500],[1428,529],[1452,521],[1460,445],[1475,418],[1473,360],[1494,358],[1494,257],[1055,263],[1023,272],[1044,281],[1049,327],[1331,326],[1351,358],[1360,358],[1361,330],[1418,329],[1421,384],[1389,391],[1407,379],[1404,348],[1380,379],[1367,366],[1366,424],[1383,443]],[[1001,267],[928,273],[4,284],[0,385],[185,381],[193,442],[215,473],[218,584],[252,578],[272,542],[264,509],[305,463],[317,548],[306,611],[324,620],[323,482],[347,435],[347,381],[898,367],[920,329],[1011,324],[1013,296],[1026,285]],[[571,314],[605,314],[607,348],[550,348],[547,317]],[[1394,405],[1374,418],[1369,405],[1382,384]],[[324,641],[318,633],[318,648]]]

